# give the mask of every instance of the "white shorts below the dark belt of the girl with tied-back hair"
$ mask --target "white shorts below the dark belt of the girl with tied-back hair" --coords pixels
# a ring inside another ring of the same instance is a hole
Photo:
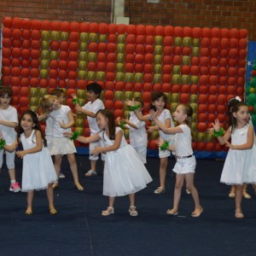
[[[172,171],[177,174],[195,173],[195,155],[190,158],[177,159]]]

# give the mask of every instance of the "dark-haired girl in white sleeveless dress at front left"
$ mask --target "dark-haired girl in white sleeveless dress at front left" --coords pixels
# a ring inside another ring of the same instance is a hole
[[[49,150],[44,146],[37,114],[31,110],[22,114],[18,126],[18,139],[23,150],[17,151],[23,159],[22,191],[27,192],[26,214],[32,214],[34,190],[47,189],[49,213],[56,214],[52,183],[57,180]]]

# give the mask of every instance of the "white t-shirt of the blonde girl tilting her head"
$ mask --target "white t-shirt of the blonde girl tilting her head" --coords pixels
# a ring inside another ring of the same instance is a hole
[[[71,128],[63,129],[60,123],[69,124],[67,113],[71,111],[66,105],[61,105],[58,110],[53,110],[49,113],[49,118],[52,119],[52,137],[64,137],[63,132],[71,131]]]

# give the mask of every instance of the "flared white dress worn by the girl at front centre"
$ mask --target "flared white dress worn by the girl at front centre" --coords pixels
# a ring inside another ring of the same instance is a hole
[[[122,130],[117,127],[116,133],[118,131]],[[114,141],[107,137],[105,131],[101,131],[99,136],[106,147],[113,145]],[[103,195],[123,196],[136,193],[146,188],[151,181],[152,178],[136,150],[126,143],[123,135],[119,149],[106,154]]]

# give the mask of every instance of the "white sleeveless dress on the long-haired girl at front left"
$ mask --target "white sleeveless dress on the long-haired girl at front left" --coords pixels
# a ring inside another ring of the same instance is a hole
[[[30,137],[25,137],[24,133],[20,135],[20,141],[24,150],[35,148],[37,138],[36,131],[32,131]],[[42,148],[41,151],[33,154],[26,154],[23,157],[22,167],[22,191],[47,189],[49,183],[57,180],[55,166],[53,165],[48,148]]]

